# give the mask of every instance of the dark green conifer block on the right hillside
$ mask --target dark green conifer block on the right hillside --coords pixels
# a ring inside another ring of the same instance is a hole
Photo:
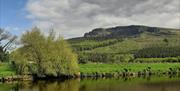
[[[165,58],[180,56],[180,47],[150,47],[137,51],[135,58]]]

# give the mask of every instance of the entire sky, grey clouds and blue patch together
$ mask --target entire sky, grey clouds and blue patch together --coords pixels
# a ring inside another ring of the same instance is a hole
[[[180,0],[0,0],[0,26],[20,35],[38,26],[65,38],[98,27],[180,28]]]

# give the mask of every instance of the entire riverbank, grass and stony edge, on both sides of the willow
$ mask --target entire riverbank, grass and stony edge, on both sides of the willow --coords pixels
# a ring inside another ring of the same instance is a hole
[[[141,77],[141,76],[180,76],[180,63],[124,63],[124,64],[79,64],[80,78],[96,77]],[[60,77],[33,78],[31,75],[16,75],[9,64],[1,64],[0,81],[60,79]],[[75,76],[74,76],[75,77]],[[78,76],[76,76],[78,77]],[[64,76],[63,79],[73,78]],[[62,78],[61,78],[62,79]]]

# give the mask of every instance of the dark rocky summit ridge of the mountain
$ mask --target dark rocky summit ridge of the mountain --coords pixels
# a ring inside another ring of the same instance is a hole
[[[148,27],[140,25],[117,26],[113,28],[96,28],[89,33],[85,33],[84,37],[130,37],[139,36],[142,33],[150,33],[153,35],[174,35],[175,33],[168,28]]]

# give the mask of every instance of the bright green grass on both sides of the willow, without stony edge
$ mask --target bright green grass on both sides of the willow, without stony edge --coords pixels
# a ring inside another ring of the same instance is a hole
[[[153,72],[166,72],[169,68],[180,68],[180,63],[129,63],[129,64],[79,64],[82,73],[112,73],[131,69],[131,72],[143,71],[151,67]],[[15,75],[15,70],[8,63],[0,64],[0,77]]]

